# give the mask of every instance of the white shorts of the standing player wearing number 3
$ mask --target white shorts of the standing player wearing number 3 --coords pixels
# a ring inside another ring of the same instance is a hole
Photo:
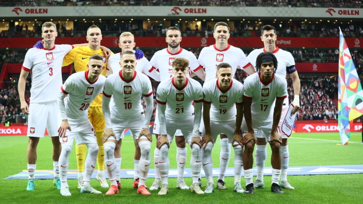
[[[28,137],[44,137],[45,128],[49,136],[58,136],[61,122],[57,101],[30,103],[28,116]]]

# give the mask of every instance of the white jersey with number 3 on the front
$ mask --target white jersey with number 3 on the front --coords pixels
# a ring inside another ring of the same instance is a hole
[[[30,103],[57,101],[62,86],[62,62],[72,45],[55,45],[52,49],[30,48],[21,67],[32,76]]]

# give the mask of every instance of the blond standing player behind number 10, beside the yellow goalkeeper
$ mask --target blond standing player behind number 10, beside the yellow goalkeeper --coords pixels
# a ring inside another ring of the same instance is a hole
[[[119,48],[121,48],[121,52],[120,53],[116,53],[113,54],[109,57],[109,60],[107,62],[107,72],[106,72],[106,76],[109,76],[109,74],[111,73],[118,73],[121,70],[120,67],[120,56],[123,52],[125,51],[133,51],[136,54],[136,68],[135,70],[138,72],[142,72],[148,76],[150,76],[151,78],[153,78],[155,81],[160,81],[160,76],[159,76],[159,72],[156,71],[156,69],[152,68],[150,62],[146,59],[146,57],[143,56],[142,53],[142,57],[138,58],[138,54],[141,50],[136,49],[134,51],[134,47],[135,47],[136,43],[134,41],[134,35],[130,32],[123,32],[121,33],[120,37],[119,37]],[[142,52],[142,51],[141,51]],[[111,101],[111,104],[113,104],[113,102]],[[121,152],[120,152],[120,148],[121,148],[121,143],[122,143],[122,138],[123,138],[123,134],[121,135],[121,138],[118,140],[118,143],[115,147],[115,160],[117,162],[117,172],[116,172],[116,179],[120,178],[120,166],[121,166]],[[140,147],[138,146],[137,142],[134,143],[135,144],[135,155],[134,155],[134,183],[132,184],[132,186],[134,188],[138,188],[138,184],[139,184],[139,161],[140,161]],[[121,184],[118,181],[118,187],[121,187]]]

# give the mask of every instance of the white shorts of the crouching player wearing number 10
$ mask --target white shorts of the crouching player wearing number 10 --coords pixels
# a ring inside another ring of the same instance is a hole
[[[134,139],[139,139],[139,134],[142,129],[142,126],[144,125],[144,114],[140,114],[138,117],[130,118],[130,119],[120,119],[117,117],[113,117],[111,115],[111,126],[113,131],[115,132],[116,139],[111,136],[108,139],[110,140],[120,140],[124,137],[123,131],[127,128],[130,129],[130,132]],[[140,139],[147,139],[146,136],[141,136]]]

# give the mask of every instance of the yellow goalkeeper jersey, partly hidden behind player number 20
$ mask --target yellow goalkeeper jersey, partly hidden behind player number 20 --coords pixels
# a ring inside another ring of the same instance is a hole
[[[87,64],[89,61],[89,57],[93,54],[99,54],[103,58],[103,66],[105,69],[101,72],[103,76],[106,76],[106,68],[107,68],[107,58],[105,54],[103,53],[102,49],[93,50],[89,46],[80,46],[73,48],[63,59],[63,65],[67,66],[69,64],[72,64],[74,62],[74,70],[76,72],[82,72],[88,70]],[[114,54],[114,53],[111,53]],[[90,106],[102,106],[102,94],[99,94],[98,97],[96,97],[93,102],[90,104]]]

